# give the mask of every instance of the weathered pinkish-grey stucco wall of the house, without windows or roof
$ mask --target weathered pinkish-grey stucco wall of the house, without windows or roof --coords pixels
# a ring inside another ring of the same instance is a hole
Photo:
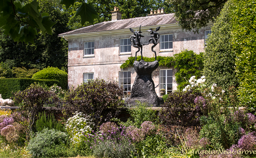
[[[173,34],[173,50],[159,51],[159,44],[154,48],[157,56],[173,56],[180,53],[181,50],[193,50],[195,53],[204,52],[204,30],[210,29],[211,26],[203,28],[199,34],[193,32],[182,31],[180,28],[165,29],[161,28],[158,32],[161,35]],[[154,27],[152,28],[155,29]],[[141,38],[141,43],[147,43],[150,36],[149,32],[142,30],[145,37]],[[108,80],[119,80],[119,71],[131,71],[131,86],[134,83],[136,72],[133,68],[121,70],[120,66],[130,56],[135,56],[137,48],[131,47],[130,54],[119,53],[119,39],[129,38],[132,33],[127,30],[123,34],[80,37],[68,39],[68,86],[77,86],[83,82],[83,73],[94,73],[94,78]],[[94,56],[84,57],[84,42],[94,41]],[[158,40],[159,43],[159,40]],[[143,47],[143,56],[153,57],[151,51],[152,44]],[[140,52],[137,53],[137,56]],[[152,78],[155,85],[159,84],[159,69],[166,67],[158,67],[153,72]],[[176,90],[177,83],[174,74],[177,69],[173,69],[173,90]],[[159,96],[159,86],[156,88],[156,93]]]

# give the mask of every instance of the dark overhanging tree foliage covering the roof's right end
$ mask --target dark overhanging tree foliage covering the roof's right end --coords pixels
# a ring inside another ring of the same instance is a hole
[[[227,0],[169,0],[179,26],[198,32],[214,22]]]

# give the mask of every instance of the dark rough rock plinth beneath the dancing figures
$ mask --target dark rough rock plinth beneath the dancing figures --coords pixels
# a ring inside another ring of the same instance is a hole
[[[158,65],[158,61],[135,61],[133,63],[137,76],[134,84],[132,85],[131,96],[125,100],[126,104],[136,105],[137,100],[154,107],[159,107],[160,104],[164,103],[164,100],[157,96],[155,84],[152,80],[152,72],[158,67]]]

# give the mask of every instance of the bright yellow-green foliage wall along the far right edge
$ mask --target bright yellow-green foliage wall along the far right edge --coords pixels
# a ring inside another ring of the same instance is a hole
[[[239,97],[242,105],[256,108],[256,2],[235,0],[232,44],[236,53]]]

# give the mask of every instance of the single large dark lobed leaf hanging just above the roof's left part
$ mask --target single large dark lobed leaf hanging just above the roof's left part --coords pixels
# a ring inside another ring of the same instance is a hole
[[[82,26],[86,21],[90,22],[90,24],[93,25],[94,19],[100,20],[92,4],[91,3],[87,4],[85,2],[77,9],[75,16],[81,17]]]

